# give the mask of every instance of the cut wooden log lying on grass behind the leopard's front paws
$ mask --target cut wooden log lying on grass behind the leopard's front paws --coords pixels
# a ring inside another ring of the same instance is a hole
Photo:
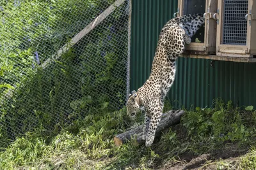
[[[163,113],[159,124],[156,129],[156,137],[161,135],[164,129],[171,127],[172,125],[179,124],[180,118],[184,115],[185,111],[183,110],[170,110],[166,113]],[[118,134],[114,137],[114,142],[116,146],[121,146],[123,143],[130,141],[132,138],[136,143],[141,144],[145,143],[145,140],[142,139],[143,125],[140,125],[134,129],[126,131],[122,134]]]

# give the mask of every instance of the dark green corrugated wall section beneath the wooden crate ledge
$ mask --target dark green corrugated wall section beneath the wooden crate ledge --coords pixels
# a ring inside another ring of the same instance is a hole
[[[256,64],[186,59],[177,60],[175,83],[168,96],[177,100],[175,106],[211,106],[212,99],[221,97],[235,105],[256,106]]]

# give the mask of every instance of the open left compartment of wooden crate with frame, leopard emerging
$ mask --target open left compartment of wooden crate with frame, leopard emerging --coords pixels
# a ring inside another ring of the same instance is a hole
[[[205,25],[201,27],[191,39],[191,44],[186,46],[184,53],[211,54],[216,53],[216,21],[211,13],[217,11],[217,0],[179,0],[179,15],[204,13]]]

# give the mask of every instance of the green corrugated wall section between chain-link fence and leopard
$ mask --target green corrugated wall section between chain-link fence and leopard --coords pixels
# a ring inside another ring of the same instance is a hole
[[[147,80],[159,33],[176,9],[177,1],[132,1],[131,90]]]

